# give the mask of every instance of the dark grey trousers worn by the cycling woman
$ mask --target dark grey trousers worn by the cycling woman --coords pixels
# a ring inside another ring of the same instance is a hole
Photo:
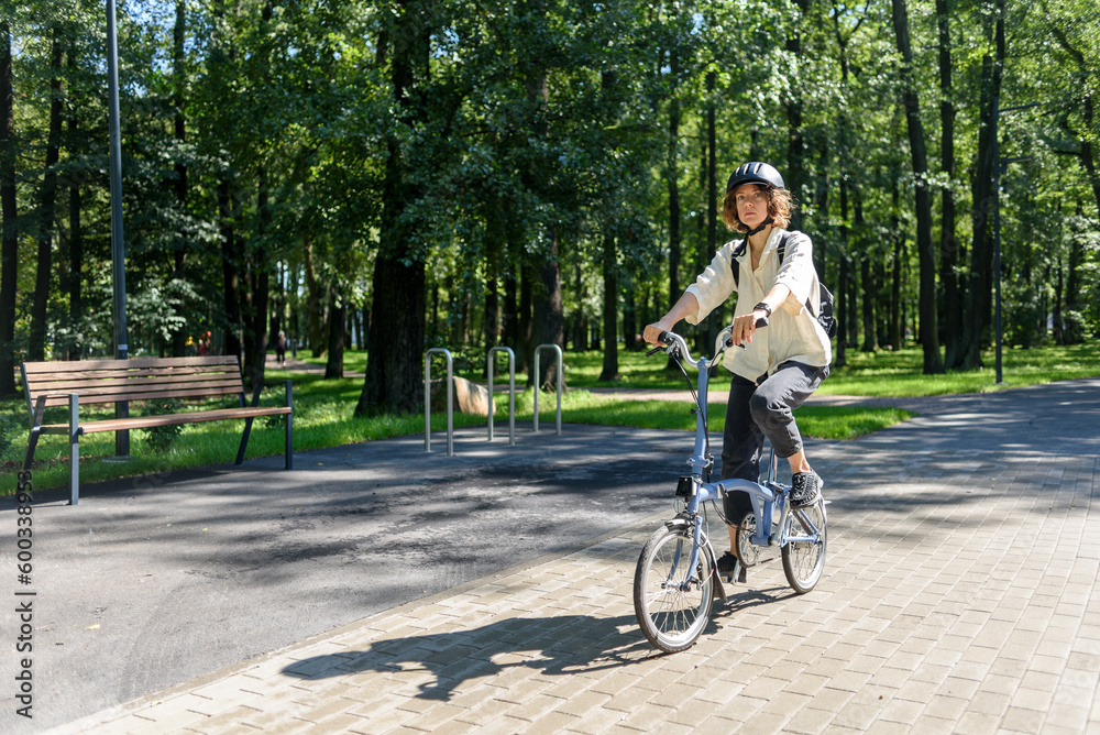
[[[782,363],[757,383],[734,375],[726,402],[726,429],[722,437],[722,480],[739,478],[759,482],[763,441],[787,459],[802,451],[802,435],[794,409],[805,403],[828,376],[828,366]],[[726,519],[737,525],[752,509],[746,493],[730,493],[723,504]]]

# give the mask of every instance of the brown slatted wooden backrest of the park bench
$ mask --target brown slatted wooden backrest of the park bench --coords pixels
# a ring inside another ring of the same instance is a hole
[[[70,393],[81,404],[244,394],[233,356],[24,362],[22,372],[32,410],[41,395],[46,406],[67,406]]]

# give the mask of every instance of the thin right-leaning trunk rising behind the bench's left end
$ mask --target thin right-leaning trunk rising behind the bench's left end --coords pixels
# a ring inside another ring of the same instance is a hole
[[[46,308],[50,303],[50,283],[53,275],[54,211],[57,201],[57,162],[61,160],[62,138],[62,61],[64,48],[62,31],[54,26],[50,79],[50,139],[46,143],[46,166],[38,198],[38,257],[34,281],[34,304],[31,308],[31,339],[28,358],[46,359]]]

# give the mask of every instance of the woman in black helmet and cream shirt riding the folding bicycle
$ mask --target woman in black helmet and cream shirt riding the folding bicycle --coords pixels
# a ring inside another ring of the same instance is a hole
[[[737,293],[733,340],[744,349],[727,350],[723,359],[733,380],[721,479],[757,482],[767,438],[777,456],[791,465],[791,502],[798,507],[816,503],[824,483],[806,460],[793,410],[828,376],[833,351],[815,316],[821,305],[813,243],[805,233],[784,229],[793,207],[791,193],[774,167],[760,162],[739,166],[726,185],[722,218],[730,230],[745,233],[745,240],[723,245],[669,312],[646,327],[644,338],[656,344],[658,336],[672,331],[681,319],[697,325]],[[756,322],[762,317],[769,325],[758,332]],[[719,572],[733,571],[735,528],[751,512],[747,494],[725,497],[730,551],[718,559]]]

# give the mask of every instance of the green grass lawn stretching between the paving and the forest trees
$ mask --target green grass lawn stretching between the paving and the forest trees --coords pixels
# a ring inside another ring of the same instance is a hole
[[[642,352],[619,351],[620,380],[598,381],[603,365],[600,352],[566,353],[566,392],[562,415],[566,423],[595,424],[607,426],[637,426],[642,428],[691,430],[694,416],[690,412],[690,396],[683,376],[667,373],[666,358],[654,355],[647,359]],[[304,355],[299,354],[299,358]],[[1042,350],[1008,350],[1004,353],[1004,385],[996,385],[993,371],[987,369],[976,373],[948,373],[947,375],[921,375],[921,352],[919,348],[908,348],[897,353],[877,352],[865,354],[855,350],[848,352],[849,364],[824,383],[820,393],[864,396],[919,396],[945,393],[996,391],[1003,387],[1032,385],[1056,380],[1085,377],[1100,374],[1097,345],[1074,348],[1045,348]],[[992,355],[987,358],[992,364]],[[323,361],[311,361],[323,364]],[[345,369],[362,372],[365,366],[363,352],[349,351]],[[504,363],[504,361],[501,361]],[[441,372],[441,371],[440,371]],[[723,371],[724,372],[724,371]],[[422,414],[408,416],[378,416],[356,418],[352,415],[362,390],[362,379],[324,381],[319,375],[272,371],[270,377],[289,375],[295,385],[295,450],[298,452],[324,447],[337,447],[374,439],[407,436],[424,432]],[[476,372],[468,375],[481,380]],[[522,386],[526,375],[517,375],[517,384]],[[507,375],[501,381],[507,384]],[[622,386],[636,388],[683,390],[683,402],[624,401],[609,394],[596,394],[578,390],[597,386]],[[712,382],[713,391],[728,387],[728,377],[721,375]],[[276,396],[267,396],[267,403],[277,405]],[[530,420],[534,405],[530,391],[517,395],[517,420]],[[496,397],[497,434],[507,431],[507,397]],[[540,421],[554,420],[553,394],[544,394],[539,401]],[[10,494],[15,487],[15,470],[22,461],[26,446],[25,403],[22,398],[0,402],[0,494]],[[64,410],[55,409],[47,421],[64,421]],[[81,409],[87,420],[106,417],[113,409]],[[98,412],[98,413],[97,413]],[[135,410],[136,415],[136,410]],[[862,408],[836,406],[805,406],[799,410],[799,426],[806,436],[831,440],[853,439],[904,420],[910,415],[894,408]],[[6,419],[6,420],[3,420]],[[724,424],[723,412],[714,412],[710,421],[712,431],[721,431]],[[455,427],[485,426],[485,419],[477,416],[455,414]],[[124,462],[106,462],[114,453],[114,435],[98,434],[84,437],[80,442],[80,478],[82,482],[147,475],[150,482],[174,469],[205,467],[232,462],[241,436],[241,421],[213,421],[183,427],[166,449],[150,443],[143,431],[131,432],[133,459]],[[432,412],[432,430],[446,430],[446,415]],[[442,438],[437,438],[441,441]],[[253,428],[249,442],[248,458],[278,456],[283,452],[283,429],[277,420],[260,419]],[[38,489],[63,486],[68,482],[68,446],[62,437],[47,436],[38,442],[35,454],[37,467],[34,486]]]

